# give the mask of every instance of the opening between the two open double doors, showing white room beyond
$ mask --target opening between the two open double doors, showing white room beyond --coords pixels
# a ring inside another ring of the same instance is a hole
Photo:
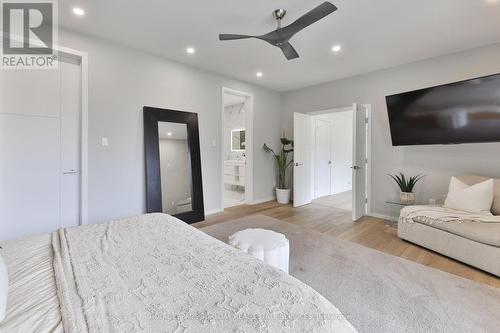
[[[313,121],[313,202],[352,211],[353,110],[332,110]]]

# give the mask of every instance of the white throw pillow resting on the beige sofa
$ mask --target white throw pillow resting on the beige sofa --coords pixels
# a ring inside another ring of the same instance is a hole
[[[494,196],[493,179],[469,186],[452,177],[444,207],[470,213],[491,215],[490,211]]]

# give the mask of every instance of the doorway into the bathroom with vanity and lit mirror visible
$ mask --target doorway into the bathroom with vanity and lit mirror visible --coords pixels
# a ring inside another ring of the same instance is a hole
[[[222,89],[222,203],[239,206],[252,201],[251,94]]]

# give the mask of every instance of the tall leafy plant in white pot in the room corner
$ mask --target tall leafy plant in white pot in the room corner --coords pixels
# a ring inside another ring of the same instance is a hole
[[[292,165],[293,159],[288,160],[288,156],[293,152],[293,140],[281,138],[281,150],[276,154],[273,149],[264,144],[264,149],[274,156],[276,161],[276,171],[278,174],[278,184],[276,186],[276,198],[281,204],[290,202],[290,189],[286,185],[286,171]]]

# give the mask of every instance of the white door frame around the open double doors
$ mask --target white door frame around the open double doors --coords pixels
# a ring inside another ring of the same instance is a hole
[[[355,103],[353,103],[354,105]],[[319,111],[312,111],[312,112],[306,112],[307,114],[311,116],[315,115],[321,115],[321,114],[328,114],[328,113],[335,113],[335,112],[343,112],[343,111],[353,111],[353,105],[348,106],[348,107],[341,107],[341,108],[332,108],[332,109],[324,109],[324,110],[319,110]],[[366,206],[366,214],[370,215],[371,214],[371,178],[372,178],[372,163],[371,163],[371,158],[372,158],[372,105],[371,104],[359,104],[362,107],[366,109],[366,116],[368,117],[368,129],[366,133],[366,157],[367,157],[367,162],[366,162],[366,200],[367,200],[367,206]],[[355,121],[355,117],[353,117],[353,122]],[[353,142],[354,144],[354,142]],[[314,163],[314,161],[313,161]],[[313,165],[313,174],[311,176],[312,181],[314,182],[314,170],[315,166]],[[314,184],[314,183],[313,183]]]

